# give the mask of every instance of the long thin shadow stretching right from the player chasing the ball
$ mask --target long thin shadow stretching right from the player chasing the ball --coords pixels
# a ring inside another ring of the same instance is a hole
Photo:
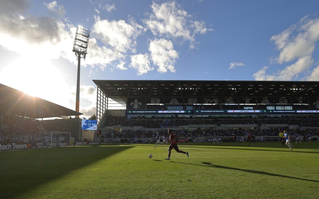
[[[171,162],[174,162],[174,161],[171,161]],[[296,178],[296,177],[287,176],[287,175],[272,174],[272,173],[268,173],[268,172],[264,172],[264,171],[256,171],[256,170],[250,170],[250,169],[240,169],[240,168],[235,168],[235,167],[225,167],[225,166],[220,166],[220,165],[213,165],[210,162],[203,162],[203,161],[200,161],[200,162],[201,162],[201,165],[184,163],[184,162],[174,162],[174,163],[189,164],[189,165],[196,165],[196,166],[202,166],[202,167],[211,167],[211,168],[230,169],[230,170],[244,171],[244,172],[248,172],[248,173],[252,173],[252,174],[263,174],[263,175],[271,175],[271,176],[290,178],[290,179],[296,179],[296,180],[303,180],[303,181],[310,181],[310,182],[319,182],[317,180],[309,180],[309,179]]]

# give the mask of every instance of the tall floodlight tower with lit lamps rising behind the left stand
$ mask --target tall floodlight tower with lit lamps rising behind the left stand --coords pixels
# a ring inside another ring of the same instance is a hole
[[[75,39],[73,44],[73,52],[78,59],[78,79],[77,79],[77,98],[75,102],[75,111],[79,112],[80,107],[80,60],[83,58],[85,60],[87,45],[89,43],[90,31],[81,27],[77,27],[77,32],[75,33]],[[79,117],[78,115],[75,117]]]

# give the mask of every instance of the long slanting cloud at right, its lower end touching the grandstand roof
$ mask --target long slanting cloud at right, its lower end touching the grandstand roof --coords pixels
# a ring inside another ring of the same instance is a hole
[[[277,74],[266,75],[266,70],[269,67],[264,66],[259,71],[254,73],[253,77],[258,81],[272,81],[272,80],[280,80],[280,81],[291,81],[295,78],[298,78],[298,75],[306,70],[308,70],[314,60],[311,56],[301,57],[298,61],[290,66],[286,66],[283,70],[279,70]]]

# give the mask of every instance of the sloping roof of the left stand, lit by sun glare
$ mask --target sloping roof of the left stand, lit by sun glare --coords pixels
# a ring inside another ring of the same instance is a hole
[[[82,115],[39,97],[0,84],[0,113],[30,118]]]

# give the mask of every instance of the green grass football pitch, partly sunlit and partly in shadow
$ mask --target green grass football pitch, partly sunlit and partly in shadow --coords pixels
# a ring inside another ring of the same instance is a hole
[[[318,198],[319,142],[100,144],[0,153],[0,198]],[[148,154],[153,158],[149,159]]]

